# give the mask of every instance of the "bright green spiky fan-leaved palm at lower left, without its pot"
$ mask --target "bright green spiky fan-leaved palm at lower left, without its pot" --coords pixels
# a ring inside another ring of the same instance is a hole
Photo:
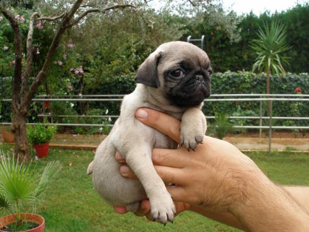
[[[40,175],[32,163],[19,163],[13,155],[0,150],[0,211],[15,217],[17,231],[23,221],[21,213],[34,213],[42,200],[41,193],[61,167],[59,161],[49,162]]]

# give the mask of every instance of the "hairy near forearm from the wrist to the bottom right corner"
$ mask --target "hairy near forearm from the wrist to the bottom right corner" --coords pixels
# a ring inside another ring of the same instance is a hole
[[[267,178],[259,178],[264,180],[253,180],[243,189],[239,207],[233,210],[246,230],[308,231],[309,215],[292,194]]]

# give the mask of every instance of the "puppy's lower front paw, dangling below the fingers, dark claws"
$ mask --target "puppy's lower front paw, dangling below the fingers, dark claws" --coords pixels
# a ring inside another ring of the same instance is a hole
[[[176,208],[171,195],[166,191],[164,194],[149,198],[151,217],[154,221],[166,224],[174,221]]]

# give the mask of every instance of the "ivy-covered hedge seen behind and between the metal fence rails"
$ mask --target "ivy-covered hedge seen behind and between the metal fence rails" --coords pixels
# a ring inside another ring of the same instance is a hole
[[[3,84],[3,83],[2,83]],[[7,85],[9,81],[7,80]],[[119,78],[110,79],[102,86],[91,89],[91,94],[128,94],[131,93],[136,86],[133,75],[121,76]],[[294,94],[295,88],[300,88],[302,94],[309,94],[309,74],[292,74],[285,76],[270,76],[270,93],[287,93]],[[9,89],[9,88],[8,88]],[[214,73],[212,75],[212,93],[265,93],[266,77],[265,74],[258,75],[252,72],[224,72]],[[3,93],[3,92],[2,92]],[[2,97],[3,94],[2,94]],[[7,98],[7,97],[5,97]],[[2,102],[3,103],[3,102]],[[7,103],[2,104],[0,114],[1,121],[9,121],[9,107]],[[1,107],[0,107],[1,108]],[[104,111],[109,110],[110,115],[119,114],[120,102],[90,102],[89,109],[100,108]],[[9,108],[10,109],[10,108]],[[206,102],[203,111],[205,115],[213,116],[217,112],[224,112],[234,116],[256,116],[259,115],[259,102]],[[34,111],[32,112],[34,113]],[[263,114],[266,115],[266,102],[263,103]],[[292,101],[275,101],[273,102],[273,116],[282,117],[308,117],[309,102],[292,102]],[[30,116],[31,118],[31,116]],[[258,120],[237,120],[236,124],[256,124]],[[276,121],[275,125],[308,125],[308,121]]]

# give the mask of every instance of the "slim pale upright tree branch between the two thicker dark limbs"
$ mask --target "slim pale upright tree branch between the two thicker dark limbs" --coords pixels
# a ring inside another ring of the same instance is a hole
[[[26,59],[26,68],[25,68],[25,73],[24,73],[24,79],[22,81],[22,89],[21,89],[21,96],[24,96],[24,94],[27,91],[28,87],[28,80],[31,74],[31,67],[32,67],[32,38],[33,38],[33,32],[34,32],[34,22],[35,18],[39,15],[38,12],[35,12],[31,15],[30,17],[30,22],[29,22],[29,31],[28,31],[28,36],[27,36],[27,59]]]

